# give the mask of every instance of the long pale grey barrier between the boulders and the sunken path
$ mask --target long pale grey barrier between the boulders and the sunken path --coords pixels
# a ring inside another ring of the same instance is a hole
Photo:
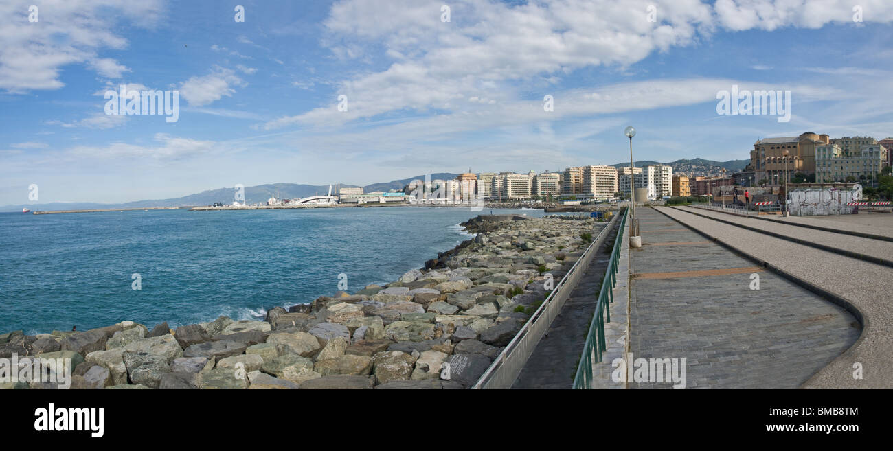
[[[626,210],[629,211],[629,208]],[[622,215],[615,214],[611,221],[605,225],[605,228],[598,233],[597,238],[583,251],[580,258],[573,263],[567,274],[555,285],[555,288],[549,293],[546,300],[539,305],[537,311],[530,315],[530,319],[524,323],[521,330],[518,330],[518,333],[515,334],[505,349],[497,355],[497,358],[490,364],[487,371],[480,376],[480,379],[472,386],[472,389],[512,388],[524,364],[527,363],[530,355],[537,348],[539,340],[546,334],[558,313],[561,313],[564,302],[571,296],[573,288],[577,287],[580,278],[583,277],[583,271],[586,271],[589,263],[595,258],[598,248],[605,242],[608,233],[613,229],[614,223],[621,217],[622,223],[625,222],[626,213]]]

